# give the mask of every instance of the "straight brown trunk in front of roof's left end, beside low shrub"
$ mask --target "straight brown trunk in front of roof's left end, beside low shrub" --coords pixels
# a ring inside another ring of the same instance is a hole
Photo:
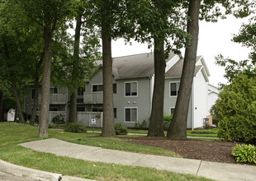
[[[102,32],[102,55],[103,55],[103,123],[102,137],[114,137],[114,108],[113,108],[113,77],[111,58],[111,37],[107,31]]]

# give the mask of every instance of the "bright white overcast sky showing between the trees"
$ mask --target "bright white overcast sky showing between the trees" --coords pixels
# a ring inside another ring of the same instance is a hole
[[[218,86],[219,82],[225,82],[223,77],[224,68],[215,65],[214,57],[222,53],[226,58],[232,58],[237,61],[248,58],[249,49],[242,47],[231,41],[232,35],[239,32],[239,28],[246,20],[236,19],[234,16],[228,16],[225,20],[217,23],[201,21],[197,55],[202,55],[210,70],[210,83]],[[112,41],[112,57],[121,57],[130,54],[149,53],[147,44],[138,44],[136,42],[125,45],[123,39]]]

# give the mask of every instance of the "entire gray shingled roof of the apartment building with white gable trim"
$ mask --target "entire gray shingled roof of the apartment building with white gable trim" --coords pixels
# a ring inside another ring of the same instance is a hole
[[[179,56],[179,60],[177,63],[174,62],[175,64],[165,73],[167,78],[182,77],[184,58],[181,55],[171,52],[169,58],[165,61],[168,63],[175,56]],[[102,60],[96,61],[96,64],[101,67]],[[208,81],[210,73],[206,63],[202,56],[197,56],[194,76],[200,71],[203,73],[206,81]],[[113,58],[112,74],[115,79],[152,77],[154,75],[154,53],[141,53]]]

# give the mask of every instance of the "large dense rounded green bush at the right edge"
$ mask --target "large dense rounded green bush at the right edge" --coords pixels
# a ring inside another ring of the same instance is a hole
[[[220,92],[211,112],[220,120],[218,137],[256,142],[256,77],[235,77]]]

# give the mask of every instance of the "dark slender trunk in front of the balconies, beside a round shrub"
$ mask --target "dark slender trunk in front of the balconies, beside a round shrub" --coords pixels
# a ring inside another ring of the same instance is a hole
[[[69,106],[69,123],[73,123],[77,121],[77,97],[78,97],[78,84],[76,76],[76,70],[79,66],[79,44],[80,44],[80,36],[81,36],[81,26],[82,26],[82,13],[80,13],[76,17],[76,28],[74,35],[74,44],[73,44],[73,90],[71,90],[70,95],[70,106]]]

